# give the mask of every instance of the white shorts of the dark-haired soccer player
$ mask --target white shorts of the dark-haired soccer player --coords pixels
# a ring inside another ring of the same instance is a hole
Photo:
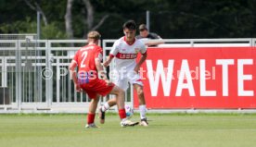
[[[114,71],[112,73],[111,80],[118,87],[122,88],[123,91],[126,91],[129,88],[128,82],[130,82],[130,84],[138,84],[143,86],[139,74],[135,73],[134,70],[131,70],[131,72],[128,73]]]

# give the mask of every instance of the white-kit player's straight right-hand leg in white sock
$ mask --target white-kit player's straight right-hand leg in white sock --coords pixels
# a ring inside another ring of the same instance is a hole
[[[146,101],[145,101],[145,96],[144,96],[144,91],[143,91],[143,86],[140,84],[134,84],[134,89],[137,92],[138,95],[138,101],[139,101],[139,112],[140,112],[140,119],[141,119],[141,126],[148,126],[147,123],[147,107],[146,107]]]

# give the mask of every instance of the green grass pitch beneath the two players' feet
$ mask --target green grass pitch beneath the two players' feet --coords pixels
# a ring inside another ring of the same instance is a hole
[[[148,119],[148,128],[121,128],[119,117],[107,114],[100,129],[84,129],[85,115],[0,115],[0,146],[253,147],[256,142],[255,114],[149,114]]]

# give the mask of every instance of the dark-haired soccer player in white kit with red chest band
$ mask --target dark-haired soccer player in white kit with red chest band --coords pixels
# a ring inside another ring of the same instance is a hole
[[[110,51],[108,59],[103,63],[104,67],[108,67],[114,58],[114,77],[113,82],[122,88],[124,91],[128,89],[128,82],[134,85],[139,99],[139,111],[141,126],[148,126],[146,116],[146,101],[143,92],[143,83],[138,74],[140,66],[147,58],[147,47],[141,41],[135,39],[136,24],[134,20],[128,20],[122,26],[124,36],[117,40]],[[141,54],[141,58],[136,63],[137,54]],[[99,110],[100,122],[104,123],[105,111],[110,106],[116,104],[116,99],[110,99],[106,104],[103,104]]]

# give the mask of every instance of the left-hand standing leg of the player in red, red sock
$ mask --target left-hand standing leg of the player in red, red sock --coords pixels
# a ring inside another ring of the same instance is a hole
[[[92,93],[90,93],[92,95]],[[96,98],[92,98],[89,104],[88,115],[87,115],[87,125],[85,128],[98,128],[95,124],[96,107],[99,101],[99,95]]]

